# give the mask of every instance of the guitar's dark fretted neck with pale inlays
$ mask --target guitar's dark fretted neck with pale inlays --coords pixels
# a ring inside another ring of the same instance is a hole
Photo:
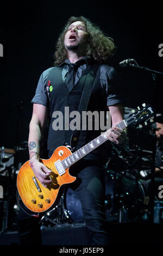
[[[116,125],[116,127],[123,130],[125,127],[127,127],[127,123],[125,120],[122,120],[119,124]],[[97,138],[93,139],[93,141],[87,143],[86,145],[84,145],[84,147],[78,149],[72,155],[67,156],[64,160],[62,160],[61,162],[64,168],[69,168],[70,166],[72,166],[72,164],[76,163],[78,160],[82,159],[84,156],[86,156],[91,151],[98,148],[105,141],[107,141],[108,137],[106,136],[106,132],[102,133],[102,135],[99,135]]]

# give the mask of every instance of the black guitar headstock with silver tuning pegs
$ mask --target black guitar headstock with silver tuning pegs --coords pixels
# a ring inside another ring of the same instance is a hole
[[[150,121],[152,122],[154,117],[154,111],[153,108],[148,104],[146,106],[145,103],[142,104],[142,108],[137,107],[138,110],[131,111],[132,114],[129,115],[128,118],[124,119],[127,123],[127,126],[129,125],[139,125],[140,128],[142,127],[141,123],[145,122],[145,125],[147,125],[147,119],[151,118]]]

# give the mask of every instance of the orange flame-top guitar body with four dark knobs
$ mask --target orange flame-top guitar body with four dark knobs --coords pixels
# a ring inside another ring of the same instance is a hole
[[[17,175],[17,189],[24,205],[29,210],[39,213],[54,208],[60,198],[61,186],[76,180],[76,177],[70,175],[69,168],[65,169],[66,172],[64,174],[59,175],[54,166],[54,162],[62,161],[71,154],[70,149],[61,146],[54,151],[50,159],[40,159],[41,163],[52,170],[52,182],[47,185],[47,188],[43,187],[39,180],[36,179],[29,161],[23,164]],[[36,187],[33,177],[35,177],[40,191]]]

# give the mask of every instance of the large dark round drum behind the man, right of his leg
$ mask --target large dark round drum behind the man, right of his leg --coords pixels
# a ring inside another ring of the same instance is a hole
[[[118,209],[124,208],[128,211],[128,217],[134,218],[139,215],[144,198],[143,185],[140,180],[136,181],[134,175],[107,170],[105,175],[106,217],[117,215]]]

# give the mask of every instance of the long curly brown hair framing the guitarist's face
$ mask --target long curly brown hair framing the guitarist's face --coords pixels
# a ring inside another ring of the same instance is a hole
[[[106,63],[110,57],[114,56],[116,47],[112,38],[104,35],[101,29],[93,24],[89,19],[83,16],[72,16],[68,19],[58,38],[56,50],[54,52],[54,65],[58,66],[67,58],[67,50],[64,45],[65,34],[68,27],[76,21],[83,22],[86,28],[86,32],[89,33],[85,56],[91,57],[99,63]]]

